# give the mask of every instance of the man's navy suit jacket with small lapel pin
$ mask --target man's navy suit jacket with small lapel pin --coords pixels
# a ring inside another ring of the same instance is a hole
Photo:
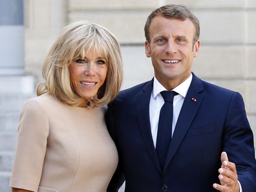
[[[121,91],[109,104],[106,120],[119,164],[107,191],[118,191],[124,179],[125,192],[216,191],[222,151],[236,164],[243,192],[256,191],[253,134],[238,92],[193,74],[162,170],[149,120],[152,89],[153,80]]]

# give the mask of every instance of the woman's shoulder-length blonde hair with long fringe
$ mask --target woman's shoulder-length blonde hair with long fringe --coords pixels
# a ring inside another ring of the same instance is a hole
[[[91,50],[107,60],[108,71],[96,96],[85,100],[72,88],[69,65],[75,58],[85,58],[85,54]],[[45,82],[37,85],[37,96],[48,92],[72,106],[84,102],[87,107],[105,105],[114,99],[122,85],[122,57],[118,41],[109,30],[100,25],[89,21],[71,23],[63,28],[50,48],[42,74]]]

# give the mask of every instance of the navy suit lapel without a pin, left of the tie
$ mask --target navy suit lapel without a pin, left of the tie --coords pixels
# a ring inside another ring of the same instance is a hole
[[[138,114],[138,122],[140,124],[140,132],[145,142],[147,151],[149,152],[149,155],[153,159],[153,162],[155,162],[158,171],[162,173],[160,164],[158,162],[158,157],[156,155],[155,146],[153,143],[150,120],[149,120],[149,101],[151,98],[152,89],[153,89],[153,80],[149,81],[145,85],[142,93],[138,96],[136,100],[136,110]]]

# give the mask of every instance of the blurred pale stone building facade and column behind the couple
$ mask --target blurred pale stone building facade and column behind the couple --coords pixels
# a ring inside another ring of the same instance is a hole
[[[193,72],[239,91],[256,135],[256,0],[0,0],[1,192],[10,191],[19,112],[43,81],[43,61],[61,28],[89,20],[111,30],[122,48],[125,89],[153,77],[144,24],[166,4],[186,5],[198,17],[201,47]]]

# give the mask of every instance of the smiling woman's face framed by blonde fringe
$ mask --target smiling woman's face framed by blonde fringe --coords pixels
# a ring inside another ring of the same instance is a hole
[[[89,51],[84,59],[75,59],[69,66],[70,82],[78,96],[90,99],[96,96],[105,82],[109,63],[98,52]]]

